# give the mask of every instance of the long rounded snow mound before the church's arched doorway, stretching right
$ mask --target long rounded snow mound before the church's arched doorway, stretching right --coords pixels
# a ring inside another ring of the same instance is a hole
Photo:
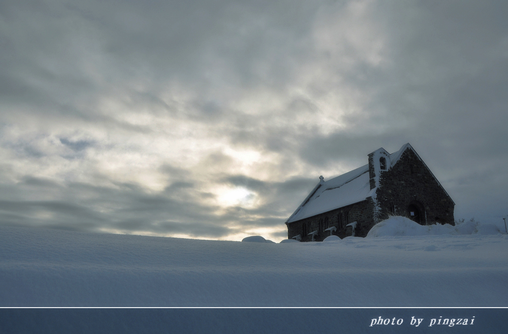
[[[372,227],[367,237],[376,236],[416,236],[416,235],[465,235],[501,234],[499,228],[493,224],[467,222],[457,226],[450,224],[420,225],[406,217],[390,217]]]

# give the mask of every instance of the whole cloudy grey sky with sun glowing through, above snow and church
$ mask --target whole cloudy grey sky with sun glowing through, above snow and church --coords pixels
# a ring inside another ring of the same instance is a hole
[[[505,1],[0,4],[0,224],[287,238],[409,142],[455,219],[508,214]]]

